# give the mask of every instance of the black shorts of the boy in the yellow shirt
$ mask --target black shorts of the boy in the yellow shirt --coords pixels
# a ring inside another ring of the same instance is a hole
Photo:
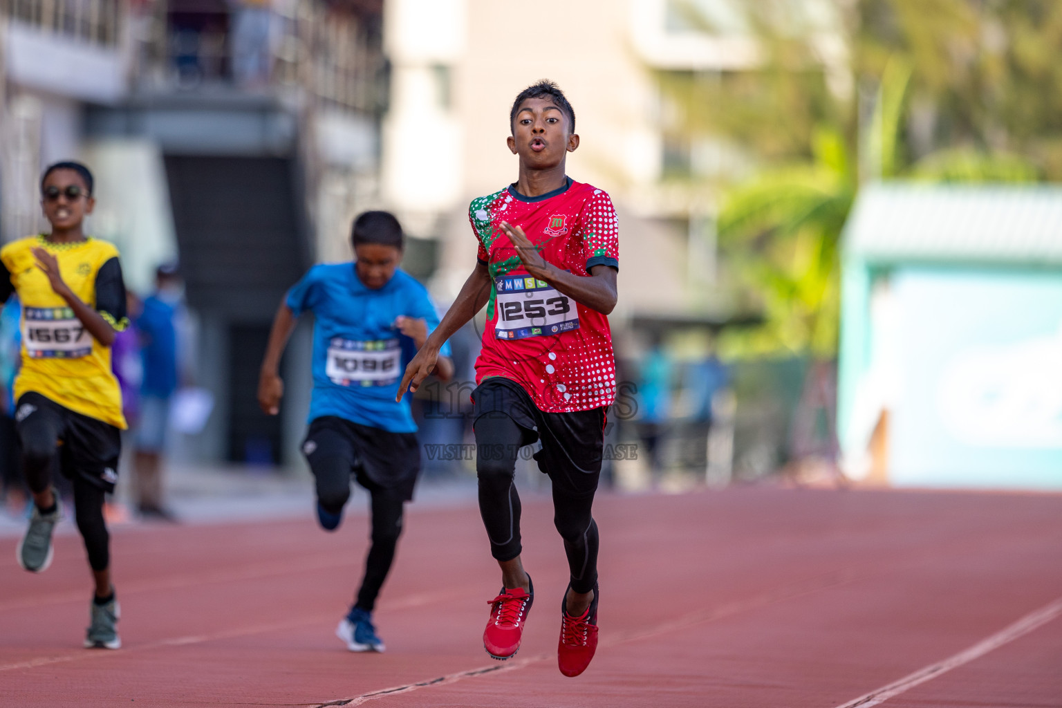
[[[74,413],[37,393],[23,394],[15,407],[19,435],[54,433],[59,442],[59,470],[73,481],[82,479],[104,491],[118,482],[122,436],[109,422]]]

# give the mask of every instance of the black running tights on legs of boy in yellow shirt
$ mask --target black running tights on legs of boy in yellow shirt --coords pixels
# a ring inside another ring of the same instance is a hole
[[[22,471],[30,490],[40,494],[52,483],[52,470],[56,467],[59,449],[56,446],[58,431],[54,419],[36,417],[19,427],[19,441],[22,445]],[[63,460],[62,464],[67,464]],[[88,553],[88,565],[99,572],[110,565],[110,535],[103,520],[104,491],[96,486],[76,470],[70,470],[68,477],[73,483],[73,508],[78,522],[78,531],[85,541]],[[55,503],[59,503],[58,496]]]

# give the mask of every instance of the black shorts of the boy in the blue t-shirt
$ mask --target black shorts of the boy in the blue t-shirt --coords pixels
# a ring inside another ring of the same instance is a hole
[[[370,491],[390,489],[413,499],[421,472],[421,447],[413,433],[392,433],[335,415],[314,418],[303,441],[312,469],[315,460],[341,455],[350,462],[358,484]]]

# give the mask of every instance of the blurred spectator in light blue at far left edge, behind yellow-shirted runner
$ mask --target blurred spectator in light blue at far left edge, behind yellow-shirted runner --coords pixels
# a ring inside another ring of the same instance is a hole
[[[18,435],[15,430],[15,399],[13,387],[21,362],[21,338],[18,331],[21,308],[17,297],[0,307],[0,484],[4,501],[15,516],[25,511],[25,482],[18,455]]]

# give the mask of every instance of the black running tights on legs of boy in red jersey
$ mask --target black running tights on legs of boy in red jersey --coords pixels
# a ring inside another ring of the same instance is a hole
[[[525,432],[504,414],[476,420],[476,476],[479,513],[491,541],[491,554],[511,560],[520,554],[520,498],[513,478]],[[553,525],[564,539],[571,589],[589,592],[597,581],[598,529],[590,508],[594,493],[573,494],[553,481]]]

